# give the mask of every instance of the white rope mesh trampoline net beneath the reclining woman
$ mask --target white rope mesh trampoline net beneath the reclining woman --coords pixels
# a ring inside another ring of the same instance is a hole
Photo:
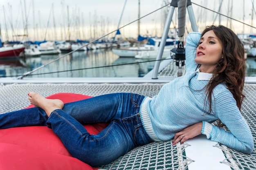
[[[107,93],[132,92],[153,97],[164,84],[8,84],[0,85],[0,113],[29,106],[27,93],[34,91],[44,97],[55,93],[79,93],[97,96]],[[241,113],[247,120],[256,148],[256,84],[245,84],[246,98]],[[137,147],[114,162],[100,167],[109,170],[187,170],[193,161],[186,157],[186,144],[172,145],[172,141],[153,142]],[[226,146],[218,146],[226,159],[220,160],[233,170],[256,170],[256,152],[246,155]]]

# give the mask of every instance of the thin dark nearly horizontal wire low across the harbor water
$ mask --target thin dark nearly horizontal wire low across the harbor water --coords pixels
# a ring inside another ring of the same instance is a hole
[[[110,65],[110,66],[97,66],[97,67],[88,67],[88,68],[78,68],[78,69],[72,69],[72,70],[64,70],[64,71],[54,71],[54,72],[48,72],[48,73],[38,73],[38,74],[30,74],[28,76],[33,76],[33,75],[45,75],[45,74],[53,74],[53,73],[63,73],[63,72],[68,72],[68,71],[79,71],[79,70],[87,70],[87,69],[93,69],[93,68],[105,68],[105,67],[112,67],[112,66],[124,66],[124,65],[130,65],[130,64],[139,64],[139,63],[145,63],[145,62],[155,62],[155,61],[163,61],[163,60],[170,60],[172,58],[165,58],[161,60],[147,60],[143,62],[132,62],[132,63],[125,63],[125,64],[115,64],[115,65]],[[21,75],[22,76],[22,75]],[[0,76],[1,77],[16,77],[16,76]]]

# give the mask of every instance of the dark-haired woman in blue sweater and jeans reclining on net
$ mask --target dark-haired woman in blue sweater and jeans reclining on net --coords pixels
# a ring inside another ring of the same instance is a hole
[[[252,133],[240,113],[244,79],[243,44],[230,29],[209,26],[186,38],[186,74],[153,98],[113,93],[63,104],[30,92],[37,107],[0,115],[0,128],[47,125],[73,157],[91,166],[153,141],[173,139],[175,145],[199,134],[250,154]],[[218,119],[230,132],[211,124]],[[90,123],[109,125],[90,135],[82,126]]]

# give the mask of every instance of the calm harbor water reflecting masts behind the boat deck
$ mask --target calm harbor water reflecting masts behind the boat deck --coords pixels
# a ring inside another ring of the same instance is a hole
[[[1,59],[0,77],[15,78],[40,66],[43,67],[27,77],[143,77],[155,64],[152,59],[119,57],[111,49],[75,51],[52,62],[63,55],[65,53]],[[247,76],[255,77],[256,57],[248,57],[246,66]]]

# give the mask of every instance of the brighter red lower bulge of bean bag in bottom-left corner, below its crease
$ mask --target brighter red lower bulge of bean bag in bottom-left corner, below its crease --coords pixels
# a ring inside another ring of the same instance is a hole
[[[94,170],[74,157],[0,143],[1,170]]]

